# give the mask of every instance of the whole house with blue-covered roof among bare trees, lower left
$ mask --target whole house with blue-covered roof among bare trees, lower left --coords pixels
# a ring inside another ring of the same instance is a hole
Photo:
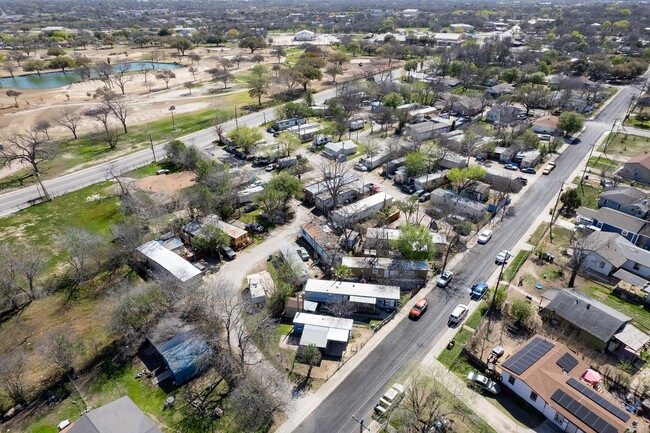
[[[176,386],[182,385],[207,367],[212,351],[205,340],[194,330],[180,332],[169,340],[158,342],[147,336],[149,353],[155,353],[163,371],[154,379],[155,383],[170,380]]]

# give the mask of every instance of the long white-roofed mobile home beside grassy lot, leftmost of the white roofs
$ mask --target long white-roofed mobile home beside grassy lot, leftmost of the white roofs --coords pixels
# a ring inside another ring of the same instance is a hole
[[[186,287],[198,287],[203,280],[203,273],[199,269],[163,247],[159,241],[149,241],[140,245],[137,250],[147,267],[173,278]]]

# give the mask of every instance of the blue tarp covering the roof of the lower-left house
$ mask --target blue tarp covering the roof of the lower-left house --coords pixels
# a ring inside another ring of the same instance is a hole
[[[192,331],[178,334],[156,349],[172,371],[177,385],[193,378],[199,372],[201,359],[210,353],[205,340]]]

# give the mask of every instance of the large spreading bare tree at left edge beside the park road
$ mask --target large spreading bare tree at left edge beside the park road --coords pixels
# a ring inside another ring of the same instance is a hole
[[[41,181],[40,165],[54,159],[57,146],[48,140],[45,134],[36,131],[13,133],[4,135],[3,138],[9,144],[0,148],[0,166],[10,166],[12,163],[31,166],[32,173],[41,188],[42,198],[50,201],[52,198]]]

